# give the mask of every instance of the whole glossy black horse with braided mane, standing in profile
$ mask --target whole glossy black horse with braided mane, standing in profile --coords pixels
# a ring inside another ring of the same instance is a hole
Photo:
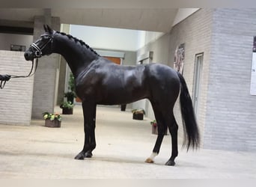
[[[185,130],[184,144],[199,146],[199,132],[186,82],[180,73],[163,64],[120,66],[101,57],[82,40],[44,25],[45,33],[32,43],[24,56],[27,61],[43,55],[63,55],[75,77],[76,94],[82,99],[85,144],[75,159],[91,157],[96,147],[96,106],[120,105],[138,99],[150,100],[158,125],[153,153],[146,162],[153,162],[159,153],[165,130],[171,134],[171,158],[165,165],[175,165],[177,157],[177,122],[173,108],[180,92],[180,108]]]

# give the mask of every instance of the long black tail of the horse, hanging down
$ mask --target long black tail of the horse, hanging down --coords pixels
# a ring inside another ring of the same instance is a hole
[[[177,73],[180,78],[180,111],[183,118],[184,141],[183,146],[187,145],[192,148],[199,147],[200,135],[198,132],[198,125],[195,119],[195,112],[192,106],[192,99],[189,95],[185,79],[180,73]]]

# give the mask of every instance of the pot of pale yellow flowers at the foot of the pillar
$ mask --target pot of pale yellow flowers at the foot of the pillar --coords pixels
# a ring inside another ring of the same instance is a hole
[[[58,113],[43,112],[43,119],[45,120],[44,125],[47,127],[61,127],[61,115]]]

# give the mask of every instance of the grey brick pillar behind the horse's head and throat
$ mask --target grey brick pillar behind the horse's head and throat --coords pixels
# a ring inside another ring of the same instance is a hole
[[[43,24],[48,24],[57,31],[61,27],[60,18],[52,17],[50,11],[45,10],[45,16],[34,17],[34,41],[44,33]],[[37,72],[34,75],[32,118],[42,118],[44,111],[54,111],[58,69],[59,55],[52,54],[39,59]]]

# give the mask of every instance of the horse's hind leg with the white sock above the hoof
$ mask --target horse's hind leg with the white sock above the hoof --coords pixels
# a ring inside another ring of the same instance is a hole
[[[153,153],[145,161],[147,163],[153,163],[153,159],[159,154],[160,147],[161,147],[161,144],[162,144],[162,139],[164,138],[165,131],[167,129],[165,121],[162,118],[161,112],[158,109],[156,109],[156,107],[153,107],[153,111],[154,111],[154,114],[155,114],[155,117],[156,117],[158,135],[157,135],[157,138],[156,138],[156,144],[153,147]]]

